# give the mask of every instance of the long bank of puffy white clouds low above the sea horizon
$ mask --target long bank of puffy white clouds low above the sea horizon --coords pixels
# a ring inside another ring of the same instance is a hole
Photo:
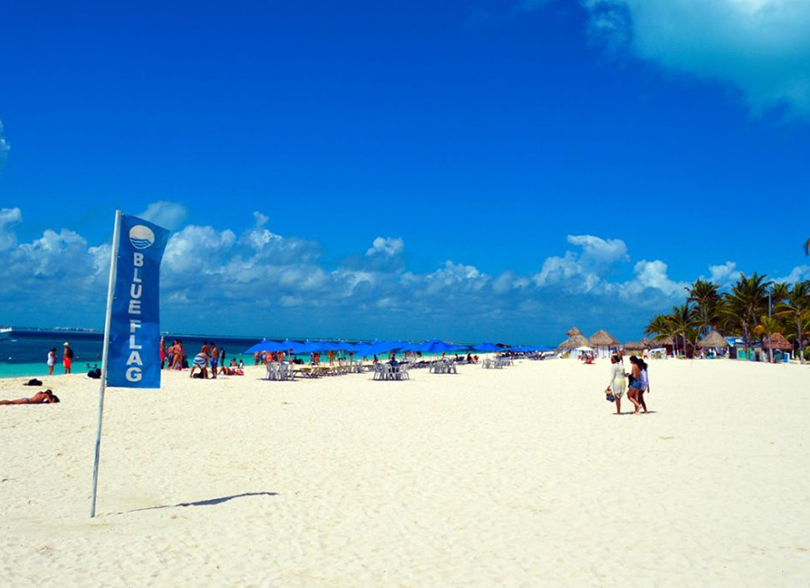
[[[49,229],[20,244],[8,230],[19,222],[19,209],[0,211],[0,242],[6,246],[0,311],[24,309],[46,324],[66,324],[70,312],[85,317],[74,324],[99,316],[109,243],[88,246],[76,232]],[[619,239],[572,235],[568,243],[574,250],[549,256],[538,273],[505,270],[492,277],[475,265],[451,260],[435,269],[406,271],[404,264],[390,263],[401,256],[385,253],[388,243],[373,256],[361,250],[336,263],[321,260],[318,243],[272,233],[267,223],[263,215],[246,218],[248,228],[238,239],[233,230],[211,226],[188,225],[172,234],[161,278],[169,328],[178,323],[220,331],[239,326],[241,332],[256,333],[272,327],[275,333],[296,336],[323,336],[325,328],[341,328],[340,336],[451,338],[454,330],[464,329],[505,339],[510,332],[534,329],[542,342],[542,333],[564,333],[572,324],[587,327],[588,321],[608,329],[611,320],[641,328],[651,312],[686,298],[686,284],[672,279],[661,260],[636,262],[627,281],[613,278],[614,270],[624,266],[626,271],[632,263]],[[714,277],[735,270],[733,262],[710,269]],[[810,267],[800,266],[784,279],[808,275]],[[52,314],[44,314],[49,304]],[[218,325],[217,316],[225,322]],[[0,321],[7,319],[0,316]]]

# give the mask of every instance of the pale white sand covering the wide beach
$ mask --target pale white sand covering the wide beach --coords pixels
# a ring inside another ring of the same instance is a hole
[[[0,586],[810,585],[810,367],[608,367],[98,384],[0,407]],[[0,398],[31,390],[0,382]]]

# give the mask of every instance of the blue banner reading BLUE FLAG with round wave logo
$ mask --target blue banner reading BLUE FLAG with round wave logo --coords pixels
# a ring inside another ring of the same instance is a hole
[[[121,215],[107,385],[160,388],[160,260],[169,231]]]

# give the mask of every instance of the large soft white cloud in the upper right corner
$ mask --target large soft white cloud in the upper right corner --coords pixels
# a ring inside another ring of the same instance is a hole
[[[752,110],[810,117],[807,0],[581,0],[609,46],[739,88]]]

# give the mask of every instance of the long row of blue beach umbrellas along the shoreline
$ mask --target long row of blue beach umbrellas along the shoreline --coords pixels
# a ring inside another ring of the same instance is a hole
[[[479,345],[456,345],[448,343],[439,339],[425,341],[423,343],[410,343],[408,341],[374,341],[373,343],[349,343],[348,341],[293,341],[286,339],[284,341],[273,341],[265,339],[249,349],[245,353],[256,353],[261,351],[271,352],[292,352],[294,354],[306,353],[328,353],[329,351],[344,351],[346,353],[354,353],[358,356],[371,356],[382,355],[390,351],[396,352],[421,352],[421,353],[447,353],[447,352],[467,352],[478,351],[481,353],[493,353],[503,351],[514,351],[518,353],[534,353],[539,351],[552,351],[551,347],[546,346],[506,346],[496,345],[485,341]]]

